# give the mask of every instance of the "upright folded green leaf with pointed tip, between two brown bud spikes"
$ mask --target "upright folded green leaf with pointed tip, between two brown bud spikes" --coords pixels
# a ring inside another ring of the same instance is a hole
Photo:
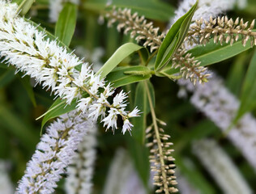
[[[164,38],[163,43],[160,45],[159,52],[156,56],[155,70],[158,71],[164,68],[169,63],[173,53],[179,48],[186,37],[189,30],[191,19],[194,11],[198,5],[198,1],[190,8],[190,11],[183,15],[176,23],[169,29],[169,32]]]

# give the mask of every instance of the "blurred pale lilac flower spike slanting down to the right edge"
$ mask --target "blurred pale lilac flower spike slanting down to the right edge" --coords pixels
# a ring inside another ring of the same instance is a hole
[[[239,108],[238,99],[224,86],[221,78],[212,73],[212,78],[204,85],[193,86],[191,82],[179,80],[178,84],[194,92],[190,102],[203,112],[223,132],[233,122]],[[256,169],[256,120],[245,114],[228,132],[228,139],[241,150],[244,157]],[[237,141],[239,140],[239,141]]]

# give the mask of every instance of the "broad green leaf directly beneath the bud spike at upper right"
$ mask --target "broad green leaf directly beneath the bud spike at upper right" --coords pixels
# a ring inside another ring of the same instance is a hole
[[[220,43],[215,44],[213,40],[211,40],[206,46],[199,45],[190,49],[188,53],[191,53],[195,60],[200,61],[200,65],[205,66],[234,57],[249,48],[251,48],[250,41],[248,41],[244,47],[241,44],[241,40],[238,40],[232,46],[226,43],[222,45],[220,45]]]

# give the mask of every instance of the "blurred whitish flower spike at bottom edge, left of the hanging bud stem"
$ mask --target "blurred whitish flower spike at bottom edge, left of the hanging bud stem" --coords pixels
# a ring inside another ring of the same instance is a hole
[[[146,194],[126,150],[118,149],[111,163],[103,194]]]

